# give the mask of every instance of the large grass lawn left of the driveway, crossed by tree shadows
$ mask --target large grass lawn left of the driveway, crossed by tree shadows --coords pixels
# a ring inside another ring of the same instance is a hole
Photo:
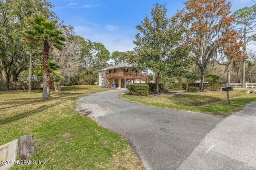
[[[69,107],[88,93],[108,90],[91,85],[62,87],[42,101],[42,90],[0,92],[0,145],[32,134],[35,154],[45,164],[13,169],[144,169],[129,143]]]

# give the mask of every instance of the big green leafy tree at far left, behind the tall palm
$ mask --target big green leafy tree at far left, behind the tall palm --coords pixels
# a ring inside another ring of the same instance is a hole
[[[18,80],[18,75],[28,67],[29,45],[20,41],[25,20],[41,11],[56,18],[50,10],[53,6],[47,0],[0,0],[0,89],[8,89],[11,76]]]

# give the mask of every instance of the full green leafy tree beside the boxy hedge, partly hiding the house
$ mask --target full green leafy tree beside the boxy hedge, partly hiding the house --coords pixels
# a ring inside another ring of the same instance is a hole
[[[141,25],[136,26],[140,33],[135,36],[133,55],[127,59],[137,69],[149,68],[155,72],[157,93],[161,75],[181,74],[193,61],[189,56],[190,48],[182,43],[184,29],[176,27],[176,23],[166,16],[165,6],[154,4],[152,19],[146,16]]]

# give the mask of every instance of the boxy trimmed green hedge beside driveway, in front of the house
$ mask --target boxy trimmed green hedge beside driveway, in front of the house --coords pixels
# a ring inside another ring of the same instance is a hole
[[[130,90],[130,94],[132,95],[147,96],[149,94],[148,84],[127,84],[126,88]]]

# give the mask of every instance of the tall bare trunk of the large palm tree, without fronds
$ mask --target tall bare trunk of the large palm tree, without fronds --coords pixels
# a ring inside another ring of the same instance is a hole
[[[42,100],[48,100],[47,94],[47,72],[48,72],[48,57],[49,57],[50,46],[48,41],[44,41],[44,49],[43,49],[43,96]]]

